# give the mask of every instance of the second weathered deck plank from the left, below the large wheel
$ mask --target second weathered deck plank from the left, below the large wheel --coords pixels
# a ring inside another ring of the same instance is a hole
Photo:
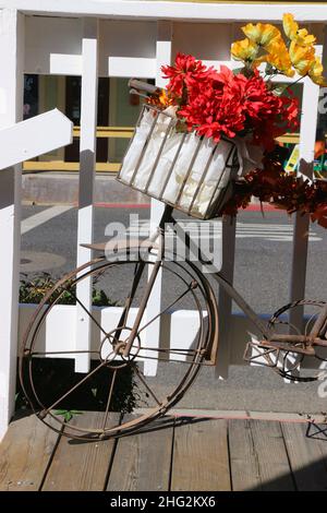
[[[104,415],[99,411],[85,411],[83,415],[78,415],[78,427],[99,428]],[[119,414],[110,416],[112,425],[117,425],[118,419]],[[74,419],[71,423],[74,423]],[[110,426],[109,422],[108,425]],[[83,442],[62,437],[41,490],[104,490],[113,448],[113,439],[100,442]]]

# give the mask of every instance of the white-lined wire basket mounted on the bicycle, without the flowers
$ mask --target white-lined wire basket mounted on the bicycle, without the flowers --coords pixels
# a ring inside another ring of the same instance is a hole
[[[118,180],[184,213],[220,215],[238,177],[235,144],[177,130],[177,118],[144,105]]]

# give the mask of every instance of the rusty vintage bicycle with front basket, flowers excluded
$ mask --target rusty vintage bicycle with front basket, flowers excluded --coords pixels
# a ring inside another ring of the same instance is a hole
[[[134,94],[158,91],[140,81],[130,83]],[[327,305],[324,301],[294,301],[280,308],[265,323],[219,270],[209,274],[203,272],[207,256],[181,229],[173,210],[201,219],[221,216],[221,208],[233,193],[234,184],[242,182],[239,177],[240,152],[235,143],[228,139],[204,147],[207,143],[197,138],[192,146],[192,134],[179,133],[175,122],[169,112],[145,104],[118,176],[122,183],[166,203],[158,227],[142,241],[113,240],[88,244],[98,255],[62,277],[46,294],[24,335],[20,355],[23,390],[38,418],[68,437],[101,440],[136,432],[174,406],[203,366],[216,365],[219,323],[213,282],[223,287],[255,326],[257,341],[249,342],[245,360],[266,365],[281,377],[296,381],[318,379],[318,371],[311,375],[302,373],[303,358],[326,361]],[[158,141],[154,145],[156,133]],[[177,139],[173,141],[173,138]],[[187,166],[185,162],[179,165],[179,160],[186,157]],[[197,160],[202,163],[201,176],[194,175]],[[210,175],[211,166],[214,175]],[[181,169],[184,169],[182,175]],[[168,231],[183,241],[185,258],[179,258],[171,244],[167,247]],[[196,254],[197,262],[190,254]],[[78,297],[77,287],[89,279],[98,282],[112,299],[111,313],[107,317],[101,314],[100,309],[87,308]],[[161,305],[149,318],[147,306],[158,279],[162,283]],[[58,336],[55,346],[44,345],[47,319],[66,295],[74,299],[90,322],[89,348],[76,350],[71,347],[70,327]],[[187,331],[184,332],[181,325],[175,332],[178,335],[170,339],[170,313],[175,307],[193,312],[192,322],[196,330],[191,339],[186,338]],[[299,330],[289,323],[286,315],[291,310],[306,307],[310,315]],[[160,336],[157,343],[148,339],[147,331],[158,322]],[[81,354],[87,355],[90,360],[89,370],[84,373],[74,371],[73,359]],[[40,358],[49,362],[43,380],[37,374]],[[56,366],[52,369],[50,365],[61,358],[70,366],[71,379],[68,383],[63,382],[60,367],[56,370]],[[156,375],[147,375],[144,370],[146,361],[155,362]],[[132,419],[128,415],[118,415],[112,420],[110,414],[117,409],[119,386],[126,372],[140,401],[134,404],[136,408]],[[68,405],[74,405],[76,393],[83,395],[86,387],[89,391],[99,374],[102,375],[102,385],[95,393],[100,394],[102,411],[98,425],[88,426],[78,413],[68,422],[63,415],[71,408]],[[49,390],[51,398],[48,397]],[[137,409],[140,404],[142,409]]]

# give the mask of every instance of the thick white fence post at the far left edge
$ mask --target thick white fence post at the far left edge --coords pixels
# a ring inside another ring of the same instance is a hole
[[[24,16],[15,9],[0,12],[0,127],[7,128],[23,112]],[[21,165],[0,171],[0,440],[15,397],[21,184]]]

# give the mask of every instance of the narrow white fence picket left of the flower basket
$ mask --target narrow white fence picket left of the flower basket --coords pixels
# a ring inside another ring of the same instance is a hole
[[[96,128],[98,102],[98,20],[84,19],[82,41],[80,190],[77,226],[77,266],[92,259],[92,251],[81,243],[93,242],[93,201],[96,163]],[[77,298],[92,310],[92,278],[83,279],[76,287]],[[76,305],[76,350],[87,350],[90,345],[92,322]],[[75,372],[87,372],[89,354],[75,357]]]

